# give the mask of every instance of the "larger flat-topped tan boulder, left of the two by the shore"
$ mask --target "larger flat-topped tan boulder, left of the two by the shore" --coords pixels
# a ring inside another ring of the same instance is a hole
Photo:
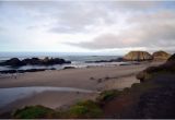
[[[130,51],[124,57],[124,60],[128,61],[145,61],[152,59],[152,56],[147,51]]]

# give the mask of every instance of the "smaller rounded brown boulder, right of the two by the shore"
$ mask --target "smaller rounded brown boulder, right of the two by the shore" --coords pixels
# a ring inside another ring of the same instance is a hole
[[[159,61],[159,60],[167,60],[171,57],[171,55],[161,50],[153,52],[152,57],[155,61]]]

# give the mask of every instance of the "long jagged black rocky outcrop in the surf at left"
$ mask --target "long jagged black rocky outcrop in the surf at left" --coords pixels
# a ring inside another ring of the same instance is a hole
[[[11,65],[11,67],[22,67],[22,65],[54,65],[54,64],[63,64],[63,63],[71,63],[71,61],[66,61],[65,59],[60,58],[48,58],[45,59],[38,59],[38,58],[32,58],[32,59],[24,59],[19,60],[18,58],[12,58],[10,60],[7,60],[4,62],[1,62],[0,65]]]

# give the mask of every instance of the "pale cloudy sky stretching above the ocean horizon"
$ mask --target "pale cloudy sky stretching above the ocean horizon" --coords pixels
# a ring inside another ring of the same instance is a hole
[[[0,51],[175,52],[175,1],[1,1]]]

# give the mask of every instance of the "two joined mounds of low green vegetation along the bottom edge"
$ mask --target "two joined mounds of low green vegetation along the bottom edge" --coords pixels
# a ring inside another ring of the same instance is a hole
[[[103,115],[100,106],[92,101],[85,100],[77,103],[68,110],[54,110],[44,106],[28,106],[23,109],[18,109],[12,118],[15,119],[39,119],[39,118],[98,118]]]

